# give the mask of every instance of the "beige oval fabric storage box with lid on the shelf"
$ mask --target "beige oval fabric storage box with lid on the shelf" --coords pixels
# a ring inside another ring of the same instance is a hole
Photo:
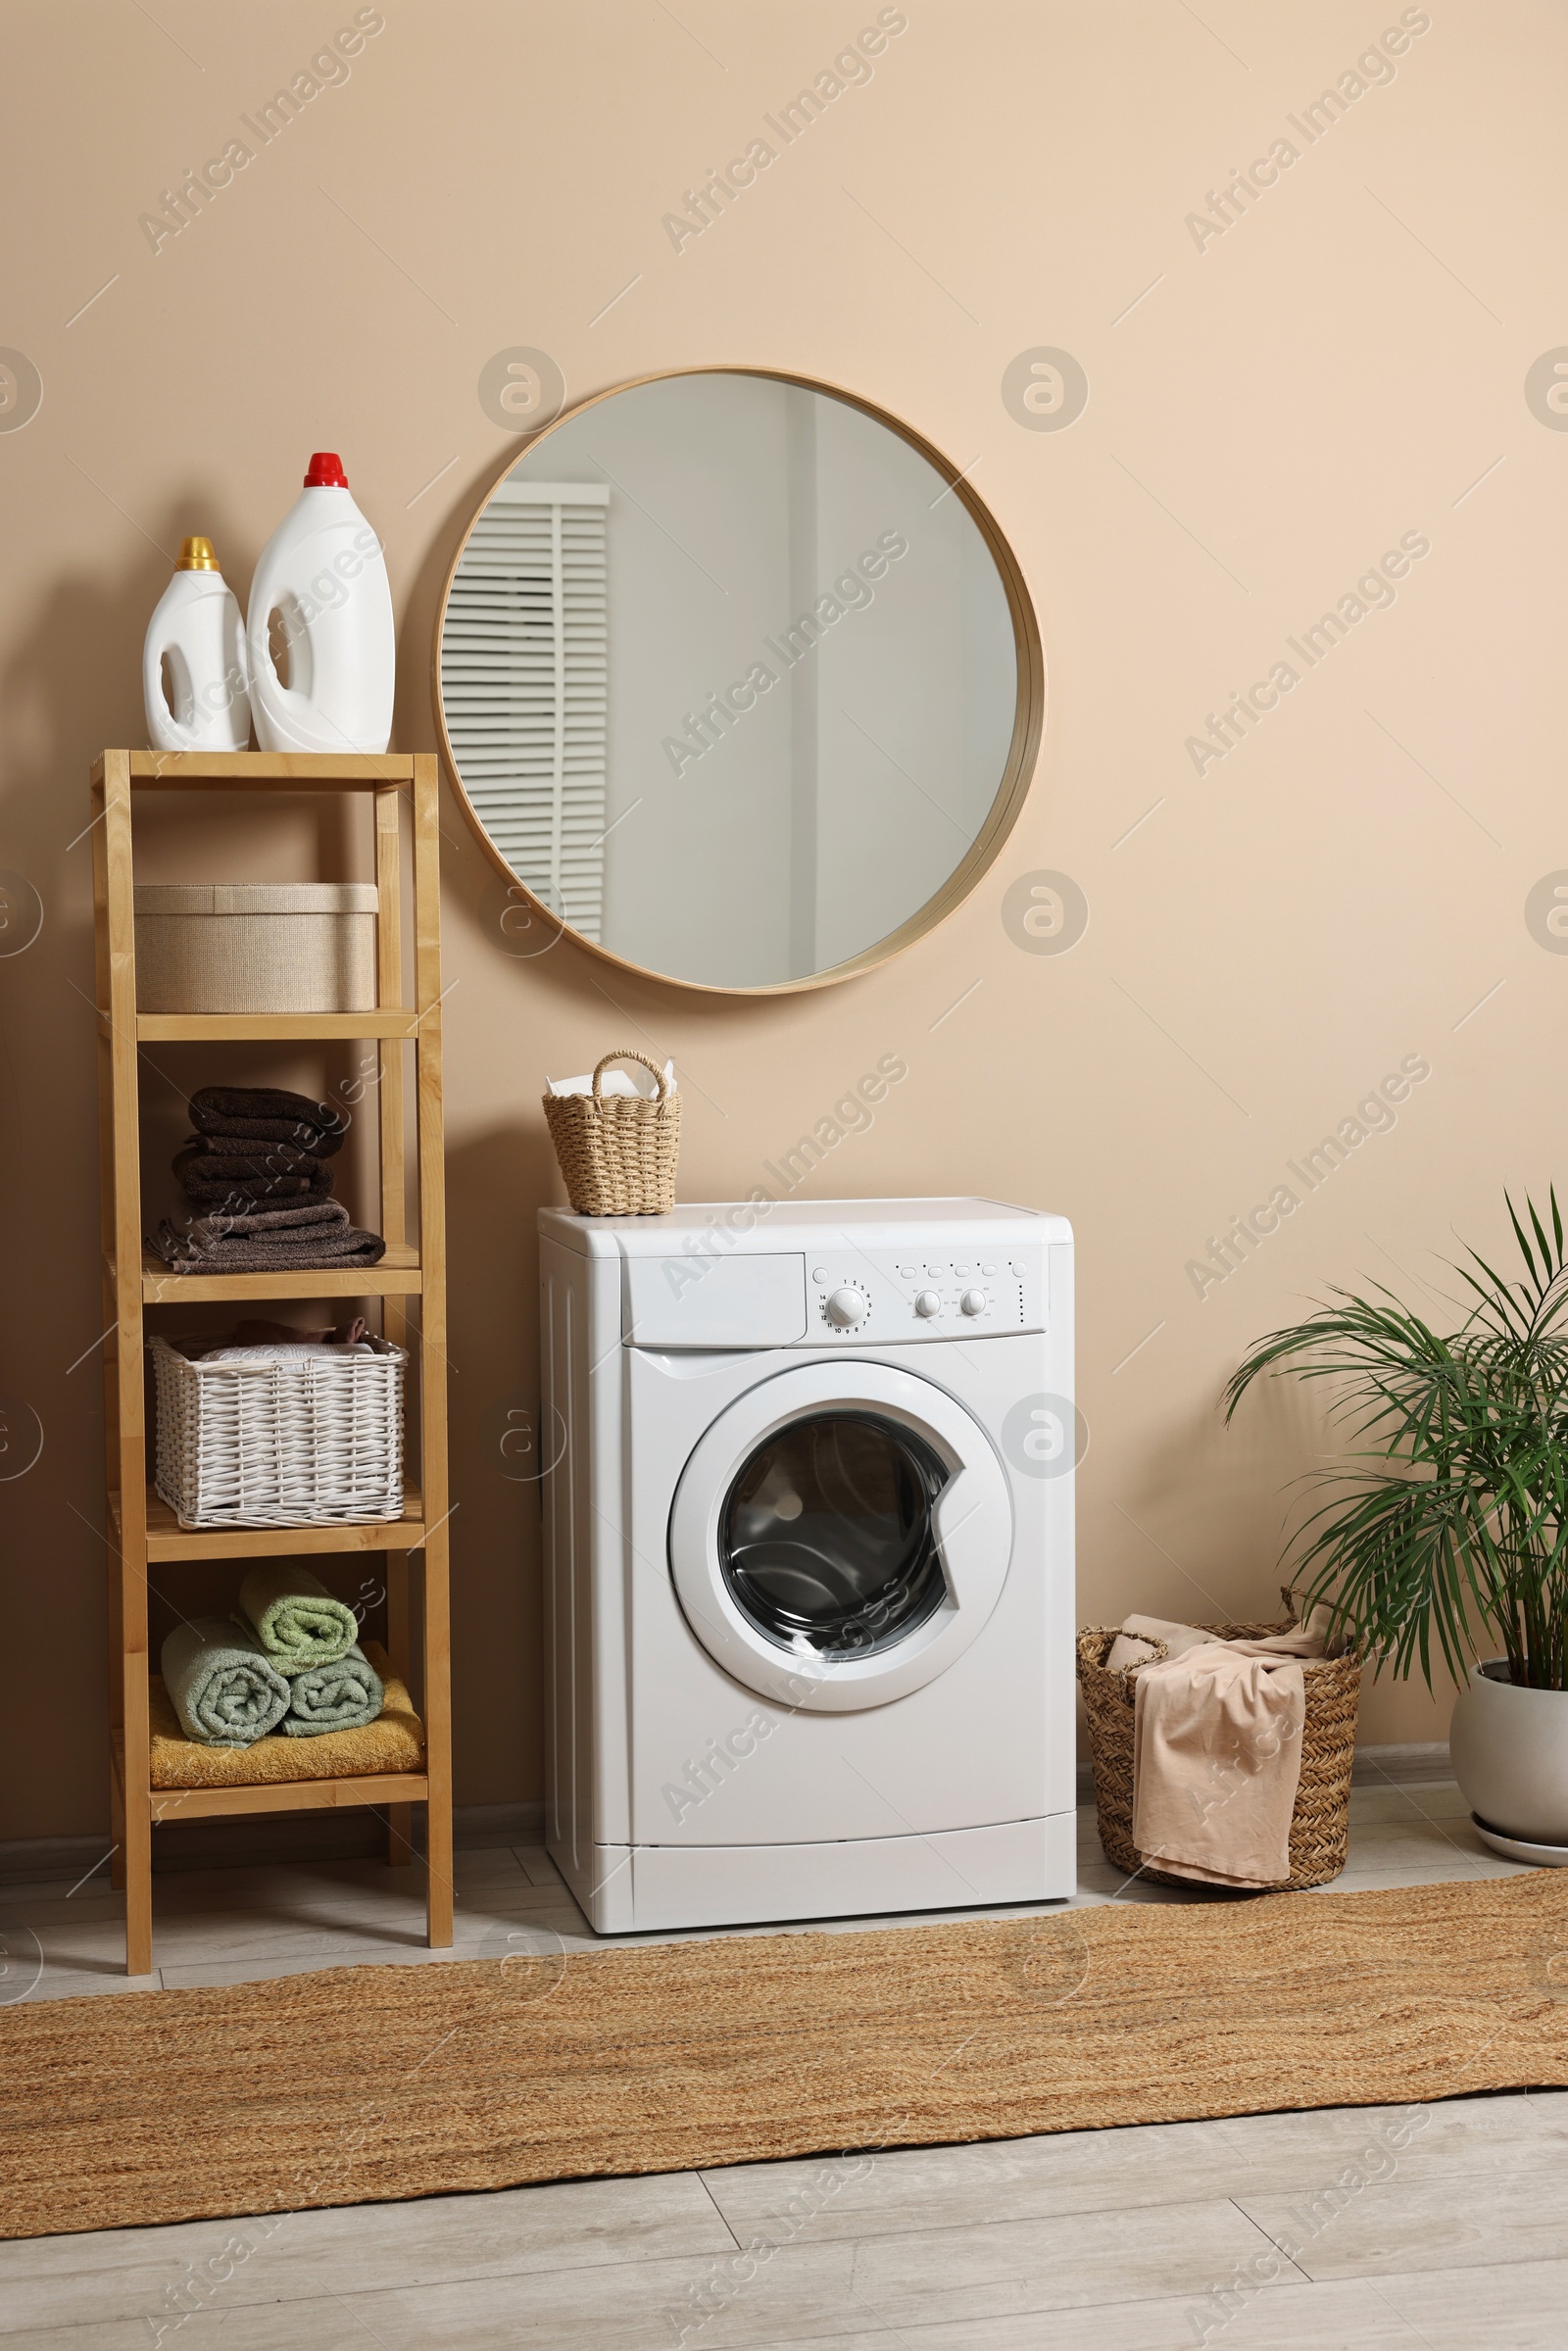
[[[364,1013],[374,882],[139,882],[143,1013]]]

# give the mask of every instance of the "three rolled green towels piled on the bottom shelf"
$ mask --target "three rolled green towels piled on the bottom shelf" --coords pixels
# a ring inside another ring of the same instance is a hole
[[[282,1559],[247,1570],[235,1617],[176,1625],[162,1679],[202,1747],[254,1747],[268,1730],[292,1740],[362,1730],[386,1697],[353,1608]]]

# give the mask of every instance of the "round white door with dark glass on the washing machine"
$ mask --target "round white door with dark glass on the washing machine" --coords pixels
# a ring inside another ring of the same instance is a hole
[[[978,1420],[886,1364],[802,1364],[738,1396],[670,1509],[691,1632],[748,1690],[804,1712],[907,1697],[983,1632],[1013,1554]]]

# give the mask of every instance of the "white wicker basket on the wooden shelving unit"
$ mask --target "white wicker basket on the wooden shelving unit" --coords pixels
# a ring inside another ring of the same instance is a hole
[[[402,1519],[402,1347],[247,1347],[193,1364],[155,1338],[150,1354],[155,1486],[181,1526]]]

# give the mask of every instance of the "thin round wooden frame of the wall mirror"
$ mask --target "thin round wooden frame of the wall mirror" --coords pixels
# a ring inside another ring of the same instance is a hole
[[[997,785],[997,797],[992,799],[985,823],[980,825],[964,858],[954,865],[943,886],[931,898],[926,898],[926,903],[919,905],[905,922],[900,922],[896,931],[889,931],[884,938],[872,940],[870,947],[863,947],[858,955],[851,955],[842,964],[832,964],[827,971],[811,971],[806,973],[806,978],[799,980],[769,980],[764,987],[724,987],[724,983],[719,980],[686,980],[672,971],[654,971],[649,964],[632,964],[623,955],[616,955],[611,947],[599,945],[599,940],[585,938],[581,931],[574,931],[569,922],[564,922],[541,898],[536,898],[529,884],[505,863],[505,858],[491,842],[489,832],[480,823],[480,813],[473,806],[468,792],[463,790],[463,778],[458,773],[458,764],[451,752],[451,736],[447,734],[447,710],[442,705],[442,635],[447,630],[447,602],[451,597],[451,583],[458,574],[463,555],[468,552],[468,541],[473,538],[480,517],[487,510],[498,484],[505,482],[512,468],[522,463],[529,449],[536,449],[543,440],[548,440],[550,433],[555,433],[564,423],[571,423],[576,416],[583,416],[588,409],[595,409],[602,400],[614,400],[618,393],[637,390],[644,383],[670,383],[679,376],[762,376],[766,383],[795,383],[799,386],[799,390],[825,393],[830,400],[842,400],[846,407],[860,409],[860,414],[870,416],[875,423],[886,426],[889,433],[898,433],[898,437],[907,442],[910,449],[924,456],[924,461],[933,468],[933,473],[938,473],[943,482],[947,482],[952,494],[969,510],[1001,576],[1006,609],[1013,623],[1013,654],[1018,663],[1018,701],[1013,705],[1013,738],[1009,743],[1009,755],[1001,769],[1001,783]],[[625,971],[639,980],[658,980],[663,987],[684,987],[693,994],[705,994],[705,997],[790,997],[799,994],[806,987],[827,987],[835,980],[851,980],[860,971],[875,971],[877,964],[886,964],[891,962],[893,955],[903,955],[903,950],[912,947],[917,938],[926,938],[926,933],[933,931],[938,922],[945,922],[947,915],[952,915],[969,898],[976,882],[985,872],[990,872],[990,868],[997,863],[997,856],[1001,853],[1006,837],[1018,823],[1018,816],[1023,813],[1023,804],[1030,795],[1030,783],[1034,778],[1034,759],[1039,755],[1039,741],[1046,726],[1046,663],[1039,644],[1039,628],[1034,623],[1034,607],[1030,604],[1030,590],[1025,588],[1018,557],[1006,543],[1001,527],[997,524],[997,517],[990,513],[985,501],[976,496],[971,484],[964,480],[957,465],[952,465],[943,456],[940,449],[933,449],[931,442],[914,430],[914,426],[903,423],[898,416],[889,414],[889,409],[879,409],[875,400],[860,400],[858,393],[846,393],[837,383],[825,383],[818,376],[795,376],[780,367],[738,367],[731,362],[719,362],[717,367],[663,367],[649,376],[628,376],[625,383],[611,383],[602,393],[590,393],[588,400],[578,400],[574,407],[562,409],[559,416],[552,416],[548,426],[538,428],[538,433],[517,437],[505,461],[484,487],[484,496],[480,498],[468,522],[468,529],[458,541],[458,550],[451,557],[447,583],[442,588],[442,602],[435,614],[435,644],[430,651],[430,696],[435,703],[435,726],[442,745],[442,759],[451,778],[451,790],[456,792],[456,799],[468,823],[480,837],[480,846],[489,856],[491,865],[496,865],[496,870],[503,875],[503,879],[517,891],[522,891],[527,905],[534,907],[543,917],[543,922],[555,929],[557,936],[576,940],[578,947],[583,947],[588,955],[597,955],[599,962],[604,964],[614,964],[616,971]]]

